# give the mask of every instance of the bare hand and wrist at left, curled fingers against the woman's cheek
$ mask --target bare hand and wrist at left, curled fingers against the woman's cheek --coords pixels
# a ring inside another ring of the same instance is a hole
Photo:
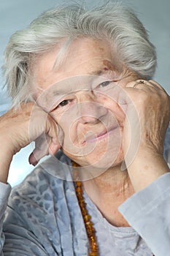
[[[54,119],[33,102],[13,108],[0,117],[0,181],[7,182],[12,157],[35,141],[29,162],[36,165],[47,154],[55,154],[63,140],[63,132]]]

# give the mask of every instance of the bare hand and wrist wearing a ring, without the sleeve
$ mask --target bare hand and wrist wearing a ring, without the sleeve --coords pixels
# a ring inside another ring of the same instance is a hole
[[[124,92],[123,151],[131,182],[139,191],[169,172],[163,140],[170,121],[170,97],[154,80],[130,82]]]

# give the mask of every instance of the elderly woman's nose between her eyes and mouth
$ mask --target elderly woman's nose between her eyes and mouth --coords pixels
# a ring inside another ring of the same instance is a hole
[[[107,108],[98,102],[91,91],[80,92],[77,98],[77,108],[83,123],[96,123],[102,121],[102,118],[107,115]]]

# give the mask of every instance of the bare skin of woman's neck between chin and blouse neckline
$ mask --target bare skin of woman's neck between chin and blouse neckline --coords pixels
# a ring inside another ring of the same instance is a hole
[[[90,199],[112,225],[128,226],[128,222],[117,210],[120,204],[134,194],[126,170],[112,167],[100,176],[82,181],[82,184]]]

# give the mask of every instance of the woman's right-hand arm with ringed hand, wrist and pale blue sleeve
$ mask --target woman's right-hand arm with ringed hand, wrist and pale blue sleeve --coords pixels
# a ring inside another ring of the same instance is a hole
[[[123,146],[136,194],[119,210],[155,256],[169,255],[170,172],[163,158],[163,141],[170,120],[170,97],[153,80],[128,83],[125,92],[128,108]]]

